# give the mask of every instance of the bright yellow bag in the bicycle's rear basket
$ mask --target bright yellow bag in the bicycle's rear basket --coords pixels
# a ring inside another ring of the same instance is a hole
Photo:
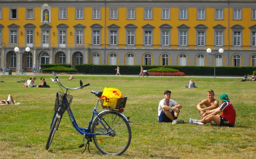
[[[116,88],[105,87],[100,97],[103,107],[115,109],[118,98],[122,97],[122,93]]]

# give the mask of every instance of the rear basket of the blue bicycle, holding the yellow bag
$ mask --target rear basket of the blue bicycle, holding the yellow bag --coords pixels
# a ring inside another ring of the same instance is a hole
[[[102,98],[100,103],[105,109],[121,109],[126,105],[127,96],[121,98]]]

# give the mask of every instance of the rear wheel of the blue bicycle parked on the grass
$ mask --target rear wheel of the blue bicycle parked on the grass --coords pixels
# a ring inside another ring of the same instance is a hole
[[[95,146],[104,154],[121,155],[130,146],[132,139],[128,121],[116,111],[105,111],[99,118],[95,118],[92,123],[92,133],[104,134],[93,136]]]

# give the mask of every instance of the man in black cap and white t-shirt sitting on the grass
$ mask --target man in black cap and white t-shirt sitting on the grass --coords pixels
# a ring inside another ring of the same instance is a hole
[[[184,120],[177,121],[182,105],[174,100],[170,100],[170,98],[171,91],[164,91],[164,99],[158,105],[158,122],[172,122],[172,124],[184,123]]]

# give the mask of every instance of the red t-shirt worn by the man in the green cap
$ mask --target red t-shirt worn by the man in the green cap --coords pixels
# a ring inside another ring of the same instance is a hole
[[[222,117],[226,118],[230,124],[235,125],[235,108],[229,101],[222,103],[219,109],[222,111]]]

